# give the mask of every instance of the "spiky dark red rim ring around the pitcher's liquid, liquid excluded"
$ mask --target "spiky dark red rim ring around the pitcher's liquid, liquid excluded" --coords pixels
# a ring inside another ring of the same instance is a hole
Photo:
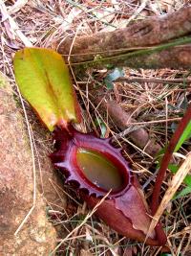
[[[105,196],[108,191],[104,191],[85,178],[76,163],[76,151],[78,149],[99,152],[116,165],[123,176],[123,187],[115,193],[111,192],[109,197],[123,195],[131,184],[131,173],[120,150],[110,144],[110,139],[99,139],[93,133],[84,134],[71,127],[69,130],[57,128],[54,131],[56,151],[51,155],[54,166],[63,172],[67,170],[70,173],[67,181],[76,181],[79,188],[87,190],[89,195]]]

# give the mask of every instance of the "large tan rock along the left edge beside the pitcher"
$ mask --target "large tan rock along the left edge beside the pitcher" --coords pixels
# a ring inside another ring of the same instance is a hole
[[[34,188],[32,152],[11,85],[0,73],[0,255],[49,255],[56,241],[43,196]],[[35,175],[37,178],[37,175]],[[14,233],[34,209],[15,236]]]

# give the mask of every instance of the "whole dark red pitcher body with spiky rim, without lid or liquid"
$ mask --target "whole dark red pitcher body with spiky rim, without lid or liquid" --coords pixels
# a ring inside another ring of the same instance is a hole
[[[123,184],[117,191],[111,191],[97,208],[96,215],[121,235],[145,242],[151,218],[138,179],[130,172],[121,150],[114,148],[110,139],[97,138],[94,133],[84,134],[71,126],[67,130],[56,128],[53,138],[56,151],[52,153],[51,158],[55,168],[67,176],[66,182],[74,181],[78,185],[81,197],[91,208],[95,207],[108,191],[98,187],[84,175],[77,164],[76,152],[78,149],[96,151],[117,167]],[[146,244],[166,243],[166,236],[160,224],[156,231],[149,236]]]

